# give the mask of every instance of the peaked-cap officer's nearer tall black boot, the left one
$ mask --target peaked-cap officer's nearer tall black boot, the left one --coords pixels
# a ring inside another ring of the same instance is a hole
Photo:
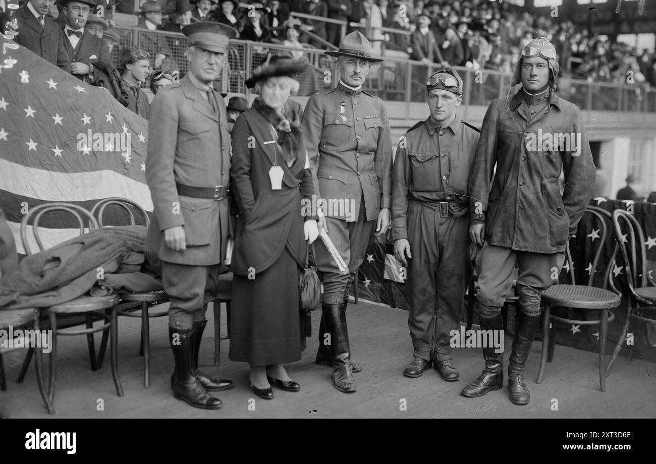
[[[178,344],[174,343],[174,339]],[[175,358],[173,396],[194,408],[218,409],[221,400],[211,396],[195,377],[194,329],[180,330],[169,327],[169,343]]]

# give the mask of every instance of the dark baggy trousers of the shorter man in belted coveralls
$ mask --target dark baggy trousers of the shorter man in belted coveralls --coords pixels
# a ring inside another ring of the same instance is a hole
[[[415,201],[408,206],[408,328],[415,358],[451,359],[449,333],[460,325],[472,277],[468,226],[468,214],[441,218]]]

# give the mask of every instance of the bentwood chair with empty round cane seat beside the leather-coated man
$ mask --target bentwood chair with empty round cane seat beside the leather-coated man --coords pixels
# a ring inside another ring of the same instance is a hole
[[[603,214],[602,214],[603,213]],[[592,286],[594,276],[596,275],[598,263],[602,250],[604,248],[605,237],[606,237],[606,224],[604,220],[604,214],[608,212],[600,208],[587,208],[584,211],[584,214],[592,214],[596,222],[600,224],[600,229],[598,232],[601,232],[599,237],[593,235],[589,237],[590,247],[594,252],[594,260],[591,263],[591,268],[589,271],[590,277],[588,277],[587,285],[577,285],[574,277],[574,266],[571,253],[569,252],[569,243],[565,248],[565,258],[569,265],[569,275],[571,279],[571,284],[555,284],[550,286],[542,294],[542,303],[544,305],[543,319],[542,319],[542,357],[540,359],[540,370],[537,376],[535,383],[542,383],[544,376],[544,369],[546,368],[546,363],[551,362],[554,353],[554,345],[556,344],[556,330],[552,321],[564,322],[565,324],[575,324],[583,326],[599,326],[599,382],[602,391],[606,391],[605,385],[605,351],[606,351],[606,334],[608,328],[608,322],[615,319],[615,315],[609,311],[609,309],[617,307],[619,305],[620,297],[618,294],[605,290],[605,288],[598,288]],[[593,231],[594,221],[593,221]],[[596,241],[596,239],[599,239]],[[586,237],[588,239],[588,237]],[[605,269],[604,277],[607,277],[610,267]],[[605,279],[604,279],[605,286]],[[569,307],[577,309],[589,309],[590,311],[599,311],[598,319],[567,319],[565,317],[560,317],[553,315],[551,312],[552,305],[558,305],[560,307]]]

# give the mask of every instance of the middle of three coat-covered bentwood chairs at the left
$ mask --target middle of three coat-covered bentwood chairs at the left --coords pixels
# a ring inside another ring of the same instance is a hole
[[[98,223],[95,218],[91,216],[87,210],[81,206],[71,203],[45,203],[35,206],[30,209],[28,214],[26,214],[20,223],[20,237],[22,239],[23,247],[26,254],[31,254],[30,242],[28,241],[28,229],[30,228],[31,223],[31,233],[35,239],[39,250],[43,251],[43,241],[39,235],[39,222],[43,217],[43,214],[48,212],[59,212],[72,215],[77,219],[77,223],[80,227],[79,235],[85,233],[84,225],[85,222],[89,221],[91,224],[91,229],[97,229]],[[83,219],[84,218],[84,219]],[[41,392],[41,397],[44,398],[45,406],[49,414],[54,414],[54,390],[55,383],[57,379],[57,337],[58,336],[75,336],[75,335],[86,335],[87,344],[89,346],[89,357],[91,358],[91,370],[97,370],[102,367],[102,358],[104,357],[104,345],[100,347],[100,353],[98,353],[98,359],[96,360],[96,350],[94,347],[93,334],[96,332],[104,332],[110,336],[110,362],[112,364],[112,378],[114,381],[114,387],[118,396],[123,396],[123,387],[121,386],[121,379],[118,372],[118,356],[117,356],[117,305],[119,303],[119,298],[116,295],[107,295],[107,296],[80,296],[75,298],[72,301],[66,301],[66,303],[60,303],[58,305],[52,305],[50,307],[39,308],[39,317],[35,318],[34,329],[40,330],[39,322],[41,317],[47,316],[50,320],[50,329],[52,330],[52,351],[49,356],[49,381],[47,386],[47,391],[45,390],[45,385],[43,383],[39,384],[39,391]],[[57,328],[57,317],[64,315],[82,315],[85,317],[87,326],[85,329],[58,329]],[[105,320],[106,322],[102,326],[94,328],[93,319],[94,317]],[[18,381],[21,382],[24,379],[25,372],[30,364],[30,358],[33,353],[36,353],[36,369],[37,369],[37,381],[39,376],[42,376],[41,373],[42,364],[41,356],[42,349],[41,347],[35,347],[28,351],[28,357],[26,357],[25,362],[23,363],[23,368],[19,374]]]

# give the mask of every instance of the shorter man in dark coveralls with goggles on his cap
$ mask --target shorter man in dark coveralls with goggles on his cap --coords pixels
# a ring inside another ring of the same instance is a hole
[[[394,159],[392,240],[408,270],[415,356],[403,371],[407,377],[419,377],[433,364],[445,381],[460,379],[449,341],[460,325],[471,278],[467,184],[480,132],[456,114],[461,101],[462,79],[455,69],[430,76],[430,116],[401,137]]]

